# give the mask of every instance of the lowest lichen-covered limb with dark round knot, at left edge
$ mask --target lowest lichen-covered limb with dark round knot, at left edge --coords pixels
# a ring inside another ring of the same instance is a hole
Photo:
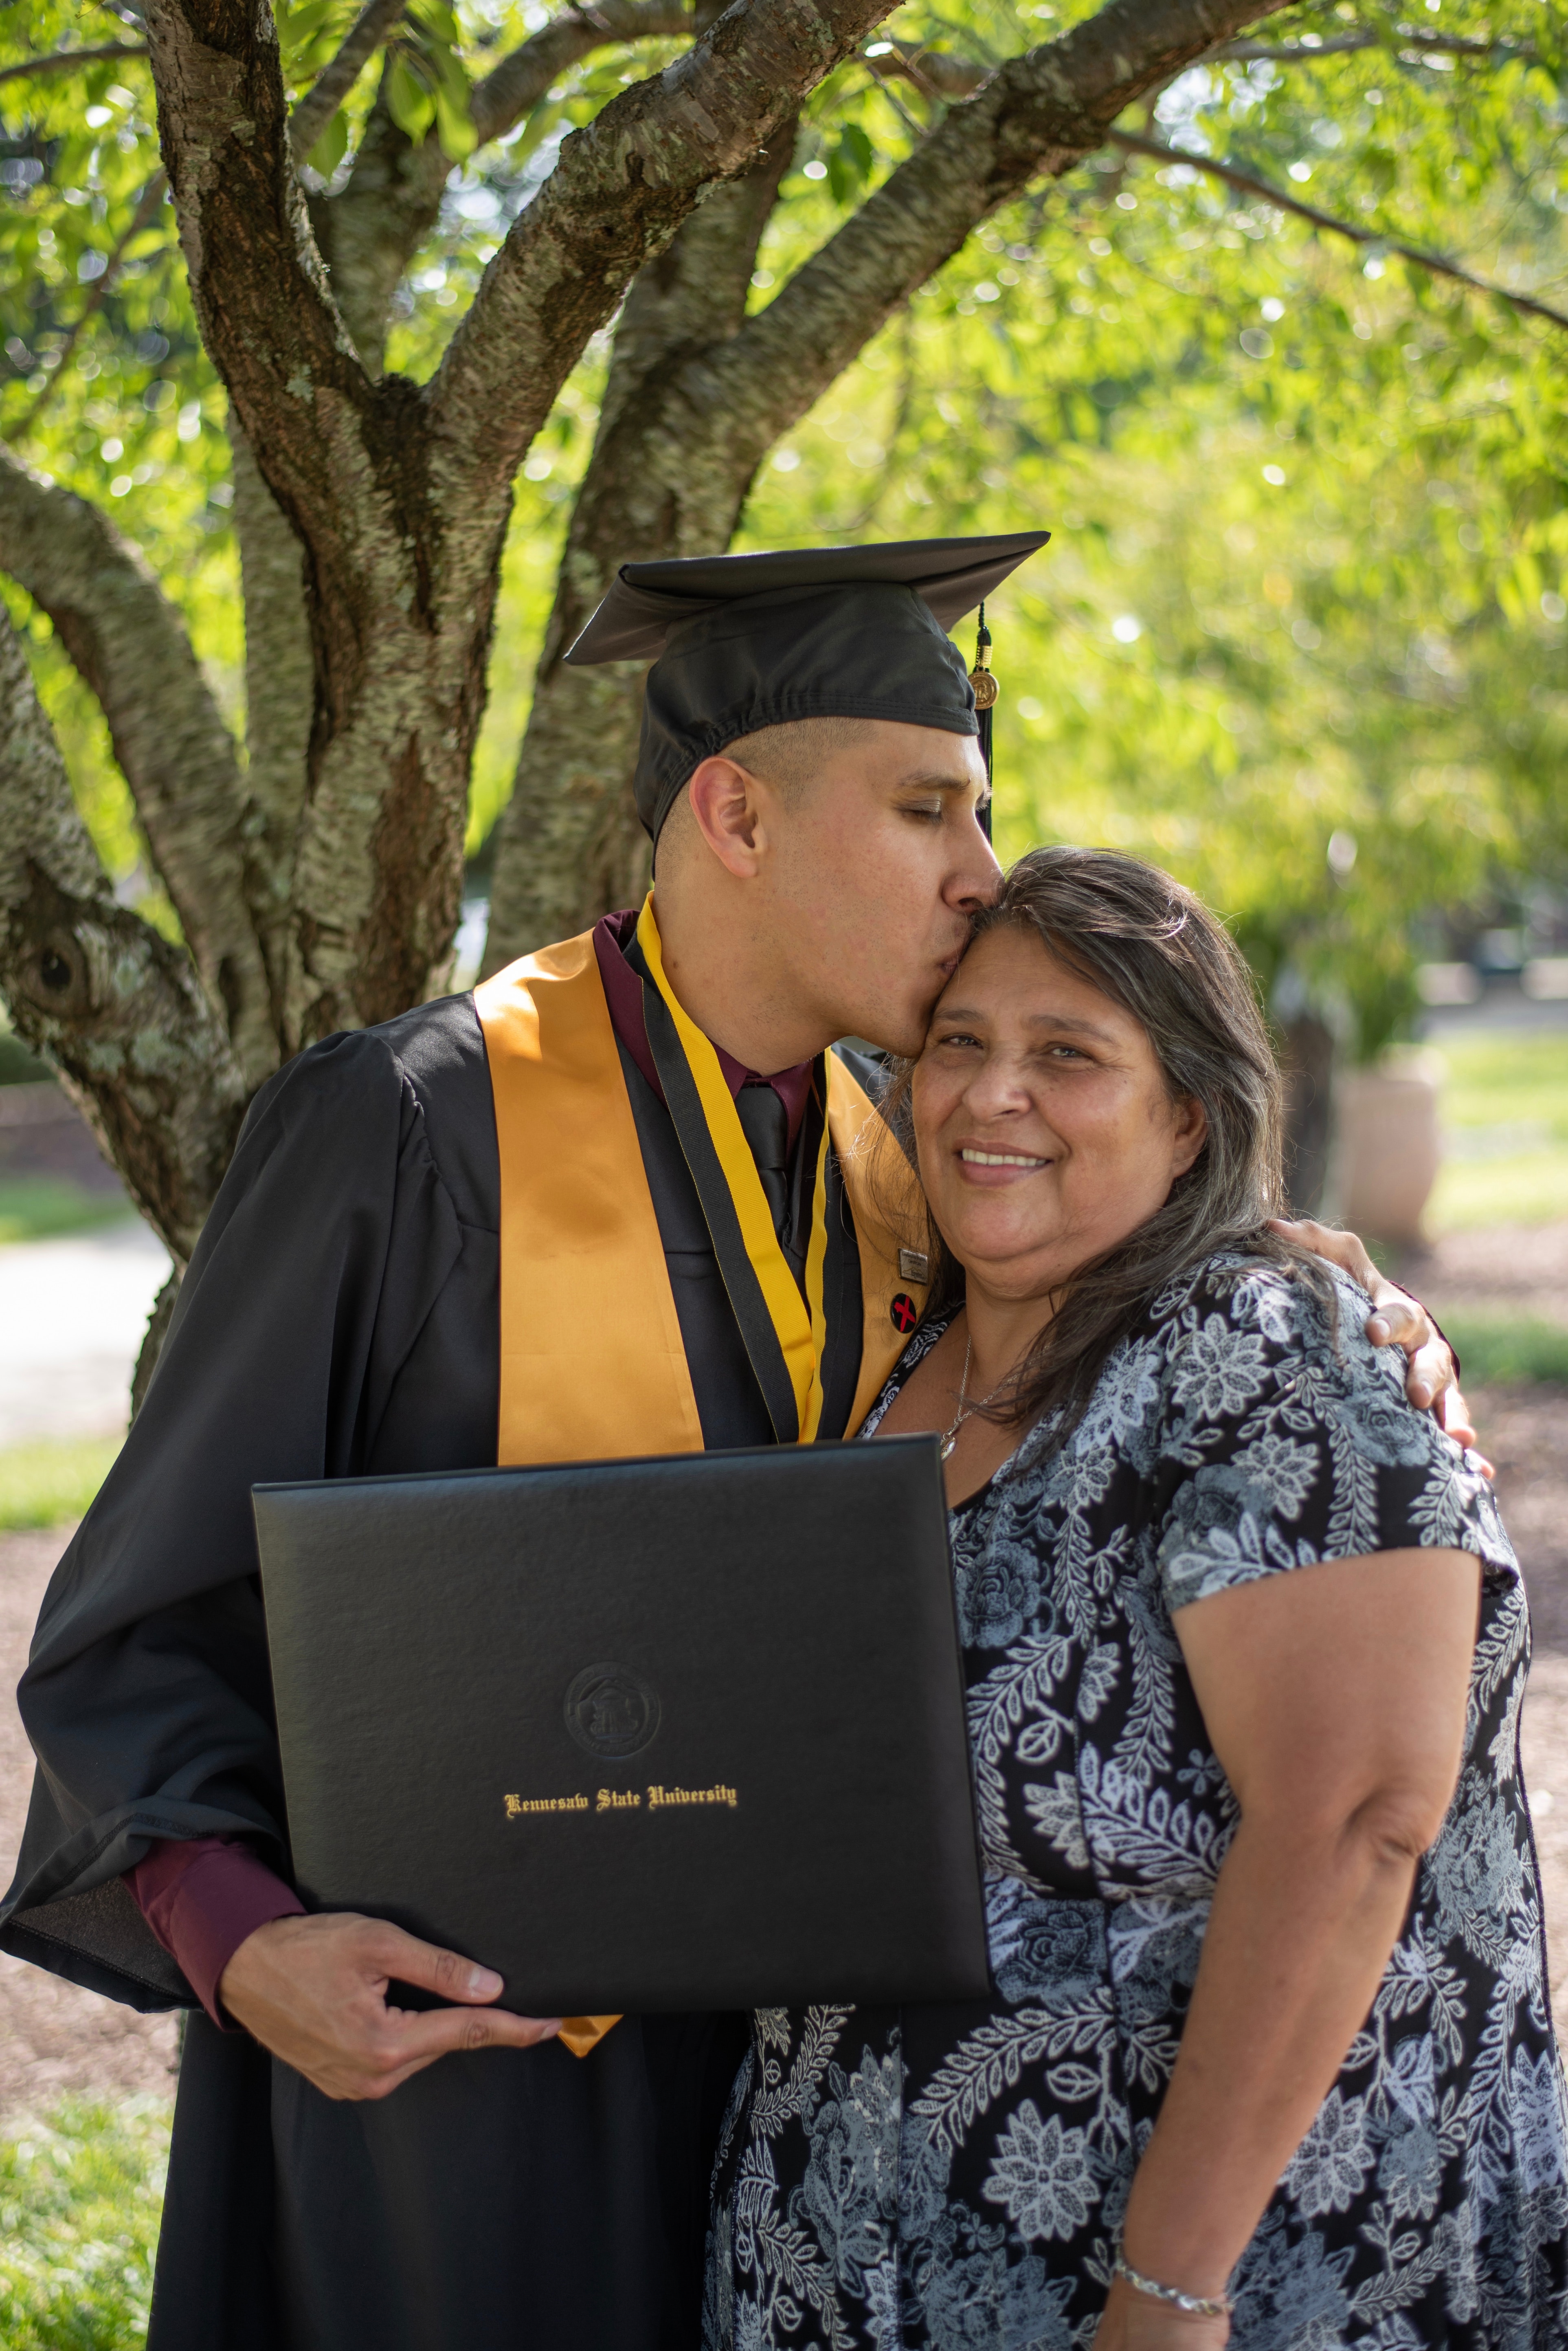
[[[188,957],[115,905],[5,614],[0,994],[183,1262],[228,1166],[244,1079]]]

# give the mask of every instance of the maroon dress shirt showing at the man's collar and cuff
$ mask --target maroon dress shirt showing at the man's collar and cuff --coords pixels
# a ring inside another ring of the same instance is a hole
[[[663,1103],[665,1093],[642,1020],[642,980],[625,962],[625,947],[635,931],[635,912],[604,915],[595,924],[592,947],[616,1037]],[[741,1086],[773,1089],[785,1105],[790,1150],[795,1150],[811,1098],[813,1065],[802,1060],[792,1070],[757,1077],[724,1046],[715,1046],[715,1053],[731,1093],[741,1093]],[[244,1838],[233,1836],[160,1838],[148,1846],[134,1869],[125,1871],[125,1886],[212,2022],[223,2031],[233,2031],[219,2003],[219,1977],[228,1961],[244,1937],[254,1935],[268,1918],[296,1918],[306,1909],[294,1888],[284,1886]]]

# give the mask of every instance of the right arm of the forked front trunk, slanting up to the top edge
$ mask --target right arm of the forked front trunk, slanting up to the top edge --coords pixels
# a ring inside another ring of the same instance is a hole
[[[562,348],[583,348],[703,188],[745,169],[884,9],[736,0],[686,56],[567,139],[430,386],[433,458],[444,482],[463,484],[458,529],[475,494],[489,503],[510,482],[562,383]]]

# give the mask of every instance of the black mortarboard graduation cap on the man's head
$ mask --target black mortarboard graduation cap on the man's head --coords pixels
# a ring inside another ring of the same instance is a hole
[[[976,736],[947,637],[1048,531],[903,538],[623,564],[567,661],[651,661],[637,813],[658,839],[691,769],[790,719],[898,719]]]

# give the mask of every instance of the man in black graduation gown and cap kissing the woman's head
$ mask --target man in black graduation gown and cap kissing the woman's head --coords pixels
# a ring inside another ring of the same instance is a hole
[[[825,1049],[914,1051],[994,886],[945,628],[1039,543],[628,567],[571,658],[661,654],[658,905],[324,1039],[247,1117],[45,1599],[0,1933],[188,2010],[150,2351],[698,2339],[738,2020],[557,2034],[303,1916],[249,1488],[856,1427],[924,1265],[867,1183],[875,1072]]]

